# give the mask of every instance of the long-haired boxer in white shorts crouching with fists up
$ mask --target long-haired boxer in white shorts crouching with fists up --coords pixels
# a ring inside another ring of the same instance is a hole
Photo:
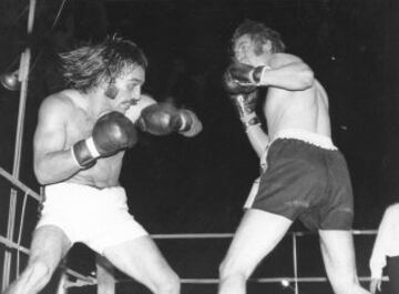
[[[180,293],[178,276],[129,213],[119,176],[137,129],[194,136],[201,121],[141,93],[147,61],[131,41],[108,38],[61,61],[69,89],[43,100],[34,133],[34,172],[45,200],[28,266],[6,293],[39,293],[75,242],[153,293]]]

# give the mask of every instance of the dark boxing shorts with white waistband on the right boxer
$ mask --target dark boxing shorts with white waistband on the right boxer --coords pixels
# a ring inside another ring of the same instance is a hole
[[[311,231],[351,229],[348,168],[329,138],[289,130],[269,145],[266,164],[250,209],[299,219]]]

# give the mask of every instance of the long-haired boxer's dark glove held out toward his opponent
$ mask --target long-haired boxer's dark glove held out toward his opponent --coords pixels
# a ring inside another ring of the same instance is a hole
[[[194,136],[202,130],[202,123],[194,112],[178,110],[170,103],[152,104],[143,109],[136,125],[140,130],[155,135],[178,132]]]

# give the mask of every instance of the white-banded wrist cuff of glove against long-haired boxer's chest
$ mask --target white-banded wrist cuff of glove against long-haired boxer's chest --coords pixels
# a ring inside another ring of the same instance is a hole
[[[81,169],[88,169],[100,158],[100,153],[94,145],[93,138],[81,140],[71,148],[72,158]]]

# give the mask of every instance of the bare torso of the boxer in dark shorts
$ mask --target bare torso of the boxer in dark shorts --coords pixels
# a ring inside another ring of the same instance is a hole
[[[311,88],[304,91],[286,91],[269,87],[264,113],[272,141],[286,129],[331,136],[328,98],[316,80]]]

